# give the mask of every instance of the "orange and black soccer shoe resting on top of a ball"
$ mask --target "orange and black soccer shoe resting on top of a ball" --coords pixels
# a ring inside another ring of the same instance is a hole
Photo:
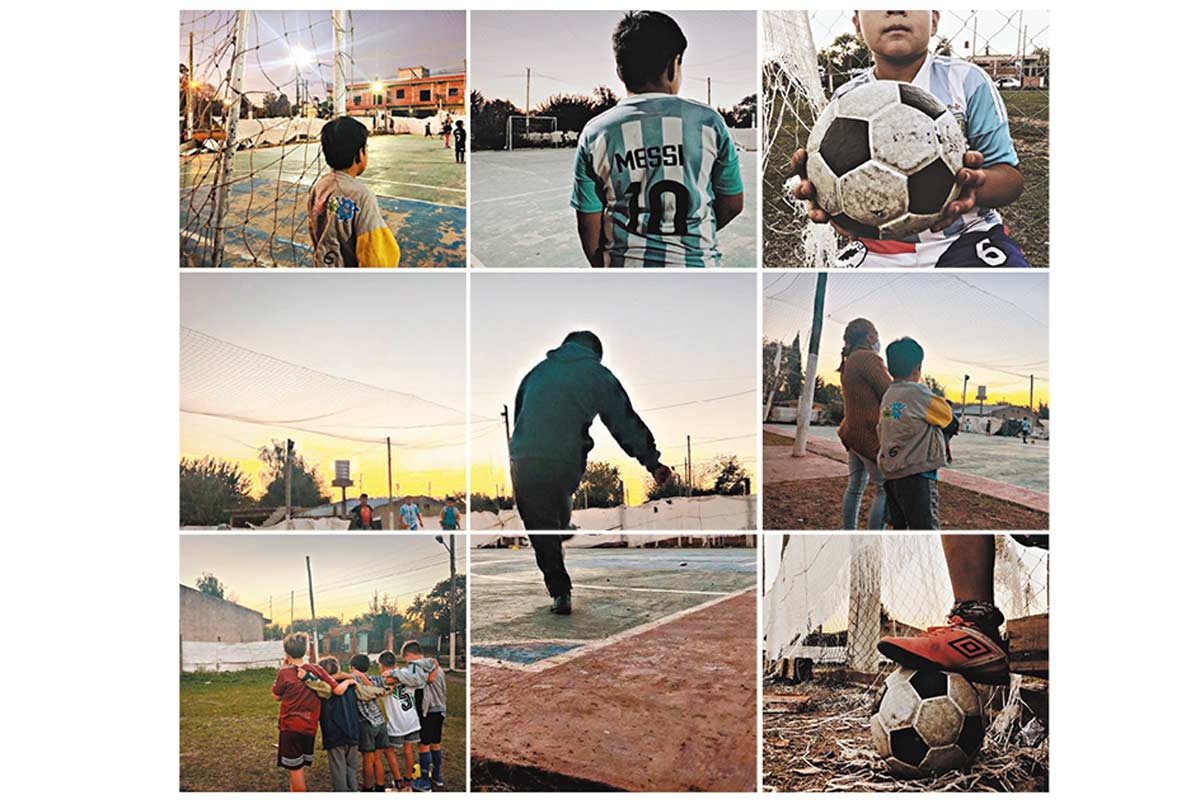
[[[917,636],[883,637],[878,651],[910,669],[956,672],[977,684],[1006,686],[1008,651],[1000,638],[1001,621],[1003,615],[994,606],[959,603],[947,625]]]

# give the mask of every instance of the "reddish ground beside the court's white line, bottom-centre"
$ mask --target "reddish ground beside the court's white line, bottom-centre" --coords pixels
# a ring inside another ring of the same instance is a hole
[[[472,664],[472,789],[752,792],[752,591],[548,669]]]

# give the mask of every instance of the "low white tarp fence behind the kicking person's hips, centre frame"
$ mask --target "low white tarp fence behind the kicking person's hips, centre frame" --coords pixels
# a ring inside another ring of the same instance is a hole
[[[580,530],[751,530],[757,525],[758,495],[668,498],[640,506],[578,509],[571,524]],[[515,510],[473,511],[472,530],[524,530]]]

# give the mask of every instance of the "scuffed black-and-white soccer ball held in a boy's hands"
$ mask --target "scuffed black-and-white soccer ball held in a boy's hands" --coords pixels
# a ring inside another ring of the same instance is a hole
[[[896,80],[835,97],[808,142],[816,201],[835,223],[868,239],[928,230],[959,196],[954,180],[966,137],[940,100]]]

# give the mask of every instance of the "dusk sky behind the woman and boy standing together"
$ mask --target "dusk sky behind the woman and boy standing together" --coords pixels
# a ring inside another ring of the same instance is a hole
[[[763,276],[763,339],[791,344],[800,333],[808,357],[816,273]],[[925,350],[925,374],[947,397],[967,399],[988,387],[988,402],[1050,402],[1049,281],[1045,272],[947,275],[944,272],[832,272],[826,291],[818,374],[839,384],[841,337],[856,317],[875,323],[880,341],[911,336]]]

